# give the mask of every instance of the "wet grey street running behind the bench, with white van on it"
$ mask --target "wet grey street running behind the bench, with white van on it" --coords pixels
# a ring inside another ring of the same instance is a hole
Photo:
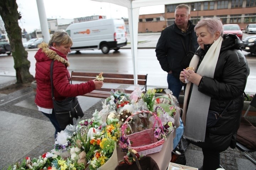
[[[243,51],[244,52],[244,51]],[[35,75],[34,55],[36,51],[28,51],[28,60],[31,62],[30,73]],[[247,80],[246,92],[256,92],[256,57],[247,56],[250,66],[250,75]],[[107,55],[100,50],[85,50],[80,54],[75,51],[68,55],[69,71],[95,72],[95,73],[121,73],[133,74],[132,55],[130,49],[113,50]],[[15,76],[14,59],[12,56],[0,55],[0,75]],[[138,74],[148,74],[148,86],[167,87],[166,74],[160,67],[155,56],[155,49],[138,49]]]

